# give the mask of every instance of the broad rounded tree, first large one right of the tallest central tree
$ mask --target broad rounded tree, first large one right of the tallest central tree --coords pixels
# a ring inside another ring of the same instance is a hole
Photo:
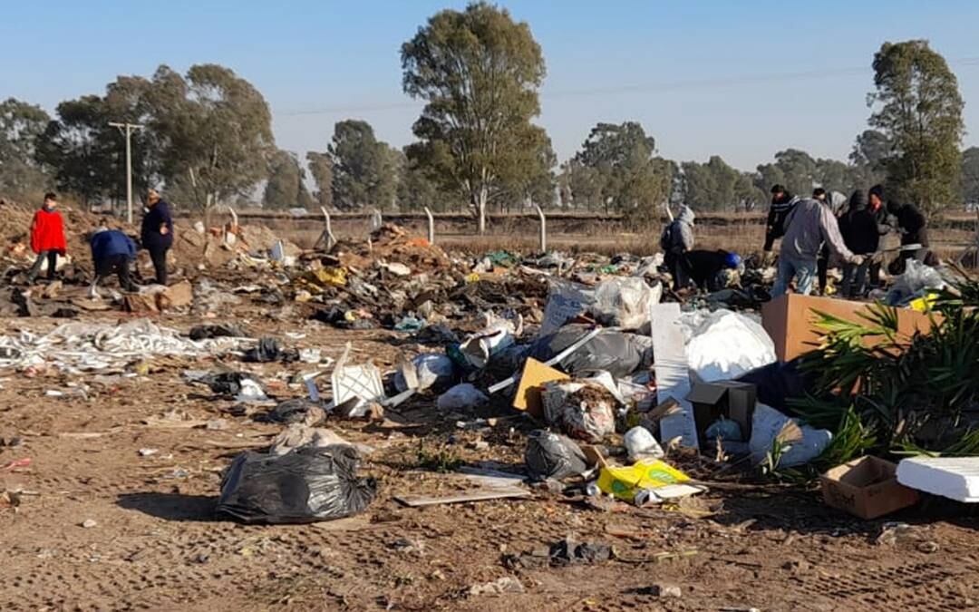
[[[655,152],[655,139],[639,123],[598,123],[575,159],[594,170],[606,212],[648,215],[669,199],[676,173],[676,164]]]

